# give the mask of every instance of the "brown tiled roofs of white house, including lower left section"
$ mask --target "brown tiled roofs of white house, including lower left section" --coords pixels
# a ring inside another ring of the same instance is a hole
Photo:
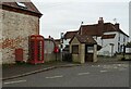
[[[64,35],[66,39],[70,39],[72,38],[75,34],[79,35],[83,35],[83,36],[103,36],[104,33],[109,33],[109,31],[119,31],[123,35],[126,35],[127,37],[129,37],[126,33],[123,33],[120,28],[119,28],[119,24],[111,24],[111,23],[98,23],[98,24],[93,24],[93,25],[81,25],[79,30],[75,31],[67,31],[67,34]]]

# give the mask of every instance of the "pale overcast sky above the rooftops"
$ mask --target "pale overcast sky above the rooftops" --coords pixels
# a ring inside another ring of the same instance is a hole
[[[81,22],[97,24],[99,17],[105,23],[120,23],[120,28],[129,35],[129,0],[32,0],[44,14],[40,18],[40,35],[60,38],[60,33],[79,29]]]

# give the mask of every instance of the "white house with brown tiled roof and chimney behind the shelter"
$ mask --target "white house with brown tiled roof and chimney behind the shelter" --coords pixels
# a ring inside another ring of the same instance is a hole
[[[92,36],[103,47],[98,51],[99,55],[112,56],[115,53],[122,52],[123,44],[129,40],[129,36],[120,29],[119,23],[104,23],[103,17],[99,17],[97,24],[81,25],[80,29],[75,30],[74,34]],[[70,40],[73,34],[66,33],[64,38]]]

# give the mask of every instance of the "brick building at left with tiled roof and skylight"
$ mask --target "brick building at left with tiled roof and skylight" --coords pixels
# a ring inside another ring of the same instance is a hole
[[[32,2],[1,2],[2,38],[0,51],[2,63],[15,62],[15,50],[23,49],[24,61],[28,60],[28,39],[39,35],[41,13]]]

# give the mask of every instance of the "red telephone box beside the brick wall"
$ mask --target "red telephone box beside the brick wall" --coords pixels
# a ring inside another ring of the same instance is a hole
[[[44,63],[44,37],[40,35],[32,35],[29,37],[28,63]]]

